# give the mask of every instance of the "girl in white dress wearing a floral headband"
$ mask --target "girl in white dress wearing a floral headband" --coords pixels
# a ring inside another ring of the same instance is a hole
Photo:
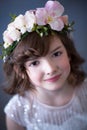
[[[16,17],[3,34],[5,91],[15,94],[4,109],[8,130],[87,129],[84,59],[63,10],[48,1]]]

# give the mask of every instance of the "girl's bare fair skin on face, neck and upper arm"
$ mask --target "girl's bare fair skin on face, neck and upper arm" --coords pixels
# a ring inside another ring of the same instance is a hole
[[[70,74],[70,59],[59,38],[51,40],[46,56],[25,63],[26,72],[36,91],[33,95],[50,106],[63,106],[73,95],[73,87],[67,83]],[[7,130],[25,130],[6,117]]]

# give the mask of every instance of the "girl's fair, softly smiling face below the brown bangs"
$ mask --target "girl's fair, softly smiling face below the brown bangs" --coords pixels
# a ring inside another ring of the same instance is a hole
[[[27,61],[25,66],[29,79],[36,89],[59,90],[67,82],[70,74],[69,57],[58,37],[51,40],[46,56]]]

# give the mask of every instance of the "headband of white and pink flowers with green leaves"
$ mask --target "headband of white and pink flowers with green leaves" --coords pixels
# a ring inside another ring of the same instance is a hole
[[[65,33],[72,31],[72,23],[68,23],[67,15],[62,16],[63,12],[64,7],[58,1],[49,0],[45,7],[29,10],[24,15],[20,14],[15,17],[3,33],[2,58],[4,61],[19,41],[30,32],[36,31],[43,37],[43,35],[48,35],[49,30]]]

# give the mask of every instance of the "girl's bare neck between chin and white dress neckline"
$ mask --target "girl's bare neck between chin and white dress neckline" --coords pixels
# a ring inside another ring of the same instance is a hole
[[[60,90],[49,91],[46,89],[37,89],[36,95],[40,102],[50,106],[63,106],[67,104],[74,93],[72,86],[66,85]]]

